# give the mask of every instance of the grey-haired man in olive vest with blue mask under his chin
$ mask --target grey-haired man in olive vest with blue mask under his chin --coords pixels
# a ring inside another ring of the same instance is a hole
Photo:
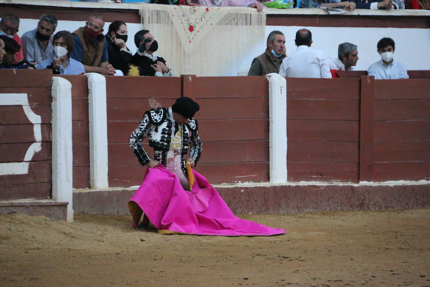
[[[285,36],[281,31],[271,31],[266,41],[266,51],[252,60],[248,76],[264,76],[278,73],[286,57]]]

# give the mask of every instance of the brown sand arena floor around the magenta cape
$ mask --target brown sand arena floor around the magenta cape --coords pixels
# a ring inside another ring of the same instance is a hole
[[[273,237],[160,235],[129,216],[0,215],[0,286],[430,286],[430,209],[242,215]]]

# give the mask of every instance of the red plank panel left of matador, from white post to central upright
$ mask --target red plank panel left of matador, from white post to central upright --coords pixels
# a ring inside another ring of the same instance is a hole
[[[140,185],[146,170],[129,147],[145,111],[169,107],[182,94],[181,77],[106,77],[108,181],[111,187]],[[198,118],[198,114],[196,117]],[[143,140],[144,148],[153,149]]]

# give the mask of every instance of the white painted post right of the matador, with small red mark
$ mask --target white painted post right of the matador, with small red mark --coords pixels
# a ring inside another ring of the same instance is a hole
[[[269,80],[269,158],[270,182],[287,182],[287,82],[279,74]]]

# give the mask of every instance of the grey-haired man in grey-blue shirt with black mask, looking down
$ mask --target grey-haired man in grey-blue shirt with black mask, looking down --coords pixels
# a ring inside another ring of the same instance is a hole
[[[43,60],[52,59],[54,56],[52,34],[55,28],[57,28],[57,18],[51,14],[43,14],[37,23],[37,28],[22,35],[22,52],[26,61],[37,64]]]

